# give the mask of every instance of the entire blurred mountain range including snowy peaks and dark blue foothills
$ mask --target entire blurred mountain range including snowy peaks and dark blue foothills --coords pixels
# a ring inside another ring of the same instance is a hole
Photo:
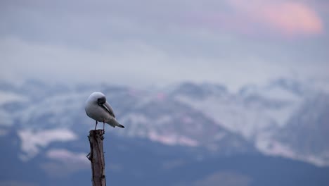
[[[86,136],[94,127],[84,101],[96,91],[126,127],[105,128],[107,172],[117,185],[329,183],[328,84],[282,78],[238,92],[193,82],[136,89],[3,80],[0,185],[91,184],[80,179],[90,175]]]

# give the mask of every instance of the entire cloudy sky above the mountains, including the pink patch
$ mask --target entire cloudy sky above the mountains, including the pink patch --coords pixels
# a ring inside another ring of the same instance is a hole
[[[1,1],[0,77],[237,88],[329,77],[329,1]]]

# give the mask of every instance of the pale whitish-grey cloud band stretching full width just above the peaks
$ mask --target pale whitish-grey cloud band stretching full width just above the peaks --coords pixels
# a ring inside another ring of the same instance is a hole
[[[314,61],[294,59],[288,56],[291,51],[283,50],[282,46],[272,49],[270,45],[239,43],[234,39],[214,44],[216,48],[207,45],[201,44],[186,52],[180,48],[184,46],[169,45],[178,47],[180,51],[176,52],[141,40],[130,40],[90,50],[0,39],[1,61],[6,61],[1,63],[0,72],[3,78],[11,80],[34,78],[50,83],[105,82],[136,87],[207,81],[224,83],[234,90],[247,83],[259,84],[269,78],[288,75],[292,69],[306,77],[325,74],[325,68],[318,62],[314,66]],[[214,54],[208,49],[214,50]],[[276,55],[279,52],[280,55]],[[305,54],[307,52],[300,58],[305,58]]]

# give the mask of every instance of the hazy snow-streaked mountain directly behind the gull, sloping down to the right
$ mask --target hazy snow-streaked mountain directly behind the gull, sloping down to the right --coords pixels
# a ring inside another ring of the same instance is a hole
[[[31,89],[37,87],[40,92],[42,88],[39,86],[42,84],[37,85],[33,85]],[[27,85],[24,87],[27,89]],[[40,94],[46,95],[45,92],[49,92],[49,89],[56,92],[54,87],[44,87],[44,92]],[[157,92],[134,92],[127,87],[101,85],[96,90],[66,89],[66,92],[48,94],[46,97],[39,97],[38,100],[35,100],[35,91],[29,90],[25,97],[30,101],[24,109],[19,109],[20,105],[6,100],[7,106],[0,106],[0,111],[6,112],[5,115],[8,116],[14,128],[25,131],[19,132],[20,139],[23,142],[29,141],[22,144],[22,149],[26,153],[23,158],[30,159],[37,155],[39,147],[42,148],[50,143],[44,141],[43,144],[34,144],[36,140],[31,138],[34,135],[43,134],[49,130],[56,131],[58,128],[81,135],[93,128],[95,122],[84,112],[84,101],[93,91],[101,91],[108,95],[108,101],[115,110],[117,119],[127,126],[127,130],[106,126],[107,130],[115,130],[117,135],[143,137],[168,145],[205,147],[212,151],[220,149],[222,154],[254,151],[252,144],[239,135],[221,128],[203,113],[179,101],[174,101],[170,97]],[[33,92],[33,94],[28,92]],[[0,121],[0,128],[5,132],[4,125],[5,123]],[[58,140],[63,139],[58,138]],[[27,149],[27,147],[30,148]]]

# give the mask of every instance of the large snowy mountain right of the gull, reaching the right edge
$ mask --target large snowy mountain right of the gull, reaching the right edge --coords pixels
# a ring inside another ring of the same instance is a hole
[[[323,104],[329,104],[329,100],[323,99],[323,95],[329,94],[325,92],[327,87],[323,86],[317,85],[316,89],[313,85],[280,79],[263,87],[243,87],[238,94],[217,94],[209,90],[200,91],[198,89],[202,89],[202,85],[190,83],[188,88],[186,85],[177,87],[172,95],[177,101],[214,119],[218,125],[254,142],[255,147],[264,154],[325,166],[329,165],[329,146],[325,143],[328,140],[322,139],[325,134],[317,130],[328,126],[328,121],[323,122],[323,117],[329,116],[326,113],[329,109]],[[195,89],[198,90],[197,94],[193,92]],[[207,96],[200,92],[207,92]],[[304,108],[303,112],[301,108]],[[296,118],[306,116],[309,116],[307,122],[297,122]],[[292,120],[295,120],[295,127],[289,130],[292,128]],[[309,140],[305,140],[306,136]],[[317,151],[311,150],[315,147]]]

